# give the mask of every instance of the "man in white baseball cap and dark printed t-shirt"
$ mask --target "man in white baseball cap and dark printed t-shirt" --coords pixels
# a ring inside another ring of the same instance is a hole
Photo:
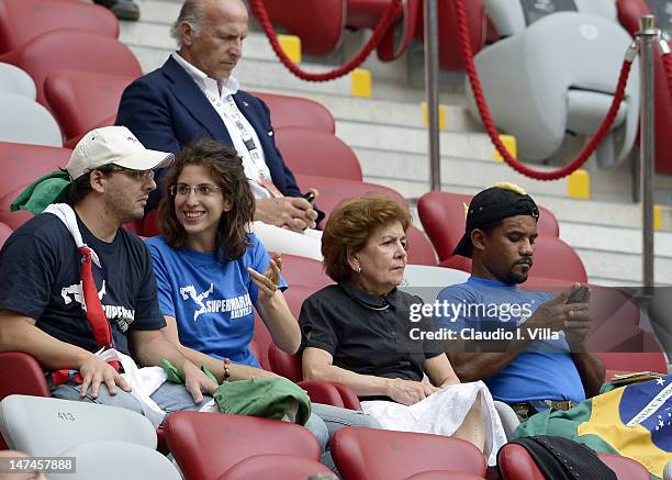
[[[166,382],[152,395],[165,411],[198,410],[216,388],[165,339],[152,258],[142,239],[121,228],[143,217],[154,169],[171,163],[172,154],[146,149],[123,126],[89,132],[66,167],[67,203],[51,204],[0,250],[0,351],[35,357],[54,397],[142,413],[119,362],[101,358],[112,349],[138,365],[166,359],[180,370],[186,389]],[[63,198],[56,193],[52,200]]]

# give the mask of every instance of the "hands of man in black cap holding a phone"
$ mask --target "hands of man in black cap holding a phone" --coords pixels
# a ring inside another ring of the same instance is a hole
[[[581,303],[565,303],[570,295],[580,288],[574,284],[548,302],[542,303],[523,325],[525,328],[551,328],[564,331],[570,347],[583,343],[591,328],[589,312],[590,293]]]

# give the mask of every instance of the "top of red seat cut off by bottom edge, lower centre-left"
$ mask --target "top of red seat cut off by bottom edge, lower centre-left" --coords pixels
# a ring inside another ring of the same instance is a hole
[[[293,455],[255,455],[229,468],[217,480],[249,480],[262,478],[306,479],[332,470],[315,460]]]

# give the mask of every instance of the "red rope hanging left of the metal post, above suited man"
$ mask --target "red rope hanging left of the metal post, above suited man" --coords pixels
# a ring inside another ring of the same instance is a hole
[[[371,54],[371,52],[373,52],[373,48],[376,48],[381,42],[383,35],[385,34],[394,19],[397,16],[400,10],[403,9],[401,1],[402,0],[392,0],[392,3],[390,3],[390,7],[388,7],[388,9],[385,10],[385,13],[380,19],[380,22],[378,23],[378,25],[376,25],[373,35],[371,36],[371,38],[369,38],[361,52],[355,58],[345,64],[343,67],[339,67],[332,71],[326,71],[324,74],[313,74],[299,68],[282,51],[282,47],[280,46],[280,43],[278,42],[278,38],[276,36],[276,30],[273,29],[273,25],[271,24],[271,21],[268,16],[268,12],[266,11],[266,8],[264,5],[264,0],[250,0],[249,3],[253,11],[255,12],[255,15],[257,16],[257,19],[259,19],[259,23],[261,23],[261,27],[264,29],[266,36],[268,37],[271,46],[273,47],[276,55],[278,55],[280,62],[292,74],[306,81],[329,81],[349,74],[355,68],[363,64],[363,62]]]

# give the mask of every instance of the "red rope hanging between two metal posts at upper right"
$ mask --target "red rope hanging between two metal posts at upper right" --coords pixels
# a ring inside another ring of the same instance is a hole
[[[485,131],[488,132],[488,135],[490,135],[490,139],[494,144],[497,152],[504,158],[504,161],[506,161],[506,164],[508,164],[508,166],[516,170],[518,174],[523,174],[526,177],[530,177],[537,180],[558,180],[578,170],[589,159],[595,148],[597,148],[600,142],[602,142],[606,134],[609,132],[609,129],[612,127],[612,124],[614,123],[614,120],[616,119],[616,115],[618,113],[620,102],[623,101],[623,98],[625,96],[625,88],[628,82],[628,75],[630,74],[632,60],[626,58],[626,60],[623,63],[623,68],[620,69],[620,76],[618,77],[618,85],[616,87],[616,92],[614,93],[612,107],[609,108],[609,111],[607,112],[604,121],[602,122],[602,125],[600,125],[600,129],[597,130],[593,138],[591,138],[591,141],[587,143],[587,145],[583,147],[579,156],[574,158],[570,164],[558,170],[535,170],[515,159],[500,139],[500,133],[497,132],[497,129],[494,125],[494,122],[490,114],[490,110],[488,109],[488,104],[485,103],[483,88],[481,87],[481,82],[475,70],[475,64],[473,62],[473,52],[471,49],[471,44],[469,42],[469,32],[467,30],[467,11],[464,9],[463,2],[464,0],[455,0],[455,9],[458,18],[460,44],[462,47],[462,56],[464,57],[467,75],[469,76],[471,89],[473,90],[473,97],[479,108],[481,119],[483,120]]]

